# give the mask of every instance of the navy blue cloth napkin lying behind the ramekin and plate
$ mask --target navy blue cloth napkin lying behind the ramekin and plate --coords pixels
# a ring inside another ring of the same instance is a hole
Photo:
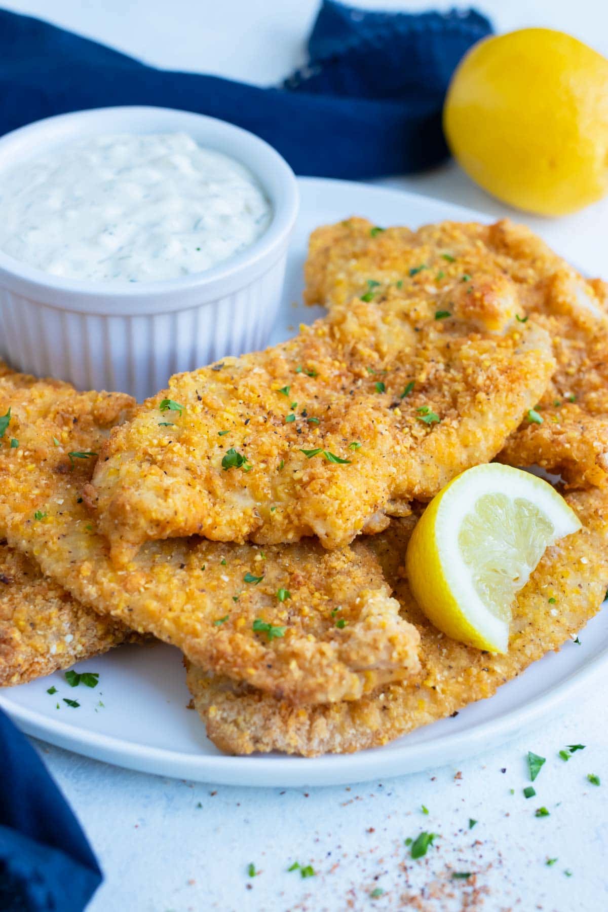
[[[142,14],[143,15],[143,14]],[[448,154],[441,107],[485,16],[366,12],[324,0],[306,67],[279,88],[148,67],[56,26],[0,11],[0,134],[52,114],[159,105],[252,130],[298,174],[371,178]],[[201,31],[201,59],[205,42]]]

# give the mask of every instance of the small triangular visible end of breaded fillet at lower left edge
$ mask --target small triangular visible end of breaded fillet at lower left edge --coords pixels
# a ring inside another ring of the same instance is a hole
[[[25,684],[132,638],[80,605],[40,568],[0,542],[0,687]]]

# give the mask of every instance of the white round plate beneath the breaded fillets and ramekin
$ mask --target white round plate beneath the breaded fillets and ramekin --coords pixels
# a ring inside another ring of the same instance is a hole
[[[306,242],[316,225],[352,214],[365,215],[380,225],[411,227],[446,218],[487,221],[479,212],[365,184],[303,179],[300,190],[302,210],[273,343],[317,316],[298,303]],[[604,611],[585,628],[582,646],[566,644],[562,652],[541,659],[496,696],[467,707],[458,717],[435,722],[373,751],[314,760],[222,755],[205,738],[196,712],[187,709],[190,694],[180,653],[160,644],[123,647],[82,663],[80,670],[99,673],[96,689],[72,689],[57,673],[5,689],[0,706],[28,734],[135,770],[222,784],[344,784],[456,763],[487,750],[556,710],[562,701],[572,700],[575,691],[582,695],[590,676],[607,664],[608,612]],[[46,692],[51,685],[57,687],[54,695]],[[63,698],[78,700],[80,707],[68,707]]]

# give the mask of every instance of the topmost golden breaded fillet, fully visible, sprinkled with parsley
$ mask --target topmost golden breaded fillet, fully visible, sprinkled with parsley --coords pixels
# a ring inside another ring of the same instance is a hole
[[[476,306],[500,309],[500,287]],[[117,563],[191,534],[338,547],[493,458],[553,368],[538,328],[446,326],[428,295],[386,312],[357,299],[282,345],[171,378],[112,433],[85,497]]]

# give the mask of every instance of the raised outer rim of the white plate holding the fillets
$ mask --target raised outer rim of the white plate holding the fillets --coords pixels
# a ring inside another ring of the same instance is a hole
[[[438,215],[438,218],[482,223],[492,221],[487,213],[399,188],[374,183],[340,181],[334,178],[298,177],[297,181],[303,196],[304,193],[323,192],[335,188],[337,192],[370,193],[378,198],[385,196],[386,199],[390,198],[391,202],[395,202],[396,197],[399,197],[404,208],[407,207],[407,202],[413,202],[415,205],[423,203],[431,215],[429,222],[433,221],[434,212],[441,210],[443,216]],[[356,200],[356,196],[354,199]],[[406,221],[404,217],[404,222]],[[10,700],[10,697],[6,696],[10,689],[0,691],[0,708],[5,710],[27,735],[93,760],[139,772],[169,778],[186,778],[197,782],[251,787],[342,785],[421,772],[444,766],[446,762],[459,762],[498,746],[518,731],[529,728],[536,720],[558,710],[565,700],[572,697],[572,693],[585,687],[589,680],[600,674],[605,667],[608,667],[608,648],[604,648],[593,658],[585,659],[579,668],[569,672],[549,689],[541,690],[524,707],[517,706],[505,710],[490,720],[480,721],[471,729],[457,733],[448,732],[431,741],[414,745],[407,745],[404,742],[396,749],[387,750],[384,756],[381,748],[346,754],[324,754],[314,758],[283,754],[189,754],[124,741],[113,735],[47,718],[38,710],[28,709]],[[525,671],[521,674],[525,674]],[[432,724],[430,723],[431,726]],[[402,737],[407,738],[407,735]]]

